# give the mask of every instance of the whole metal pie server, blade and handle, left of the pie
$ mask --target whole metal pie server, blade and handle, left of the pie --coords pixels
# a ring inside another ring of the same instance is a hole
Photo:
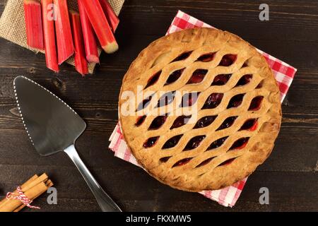
[[[102,211],[121,212],[90,174],[74,147],[86,129],[85,121],[59,97],[29,78],[18,76],[13,85],[20,116],[37,152],[47,156],[64,151],[81,172]]]

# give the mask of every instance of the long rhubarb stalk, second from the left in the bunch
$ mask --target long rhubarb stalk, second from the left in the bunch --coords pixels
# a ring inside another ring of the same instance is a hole
[[[41,3],[47,68],[59,72],[57,44],[55,42],[53,0],[42,0]]]

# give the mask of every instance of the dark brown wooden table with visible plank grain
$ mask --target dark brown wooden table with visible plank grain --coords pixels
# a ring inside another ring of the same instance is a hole
[[[269,4],[269,21],[259,20],[259,4]],[[0,12],[6,0],[0,0]],[[195,193],[170,189],[143,169],[119,160],[107,149],[117,124],[117,98],[131,61],[165,34],[180,9],[217,28],[240,35],[298,69],[283,102],[283,125],[268,160],[257,169],[234,208]],[[120,50],[102,54],[95,75],[81,78],[73,67],[54,74],[45,57],[0,39],[0,197],[35,173],[47,172],[58,204],[38,198],[42,211],[98,211],[88,186],[64,153],[39,157],[17,115],[13,78],[25,75],[52,90],[88,124],[76,146],[98,182],[126,211],[288,211],[318,210],[318,2],[127,0],[117,31]],[[259,204],[259,189],[269,188],[269,205]],[[29,210],[26,210],[29,211]]]

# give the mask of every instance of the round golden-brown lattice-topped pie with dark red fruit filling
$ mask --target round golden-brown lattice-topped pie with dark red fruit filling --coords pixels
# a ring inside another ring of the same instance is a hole
[[[136,160],[184,191],[222,189],[269,157],[281,127],[278,85],[264,57],[211,28],[161,37],[124,76],[119,122]]]

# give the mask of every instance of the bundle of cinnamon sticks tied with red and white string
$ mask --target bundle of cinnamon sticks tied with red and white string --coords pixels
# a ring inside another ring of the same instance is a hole
[[[41,194],[45,193],[49,187],[53,186],[52,181],[47,177],[47,174],[42,174],[40,177],[35,174],[28,179],[27,182],[20,186],[23,194],[30,200],[34,200]],[[18,195],[18,191],[13,191],[13,194]],[[0,201],[0,212],[18,212],[25,207],[21,201],[16,199],[4,198]]]

